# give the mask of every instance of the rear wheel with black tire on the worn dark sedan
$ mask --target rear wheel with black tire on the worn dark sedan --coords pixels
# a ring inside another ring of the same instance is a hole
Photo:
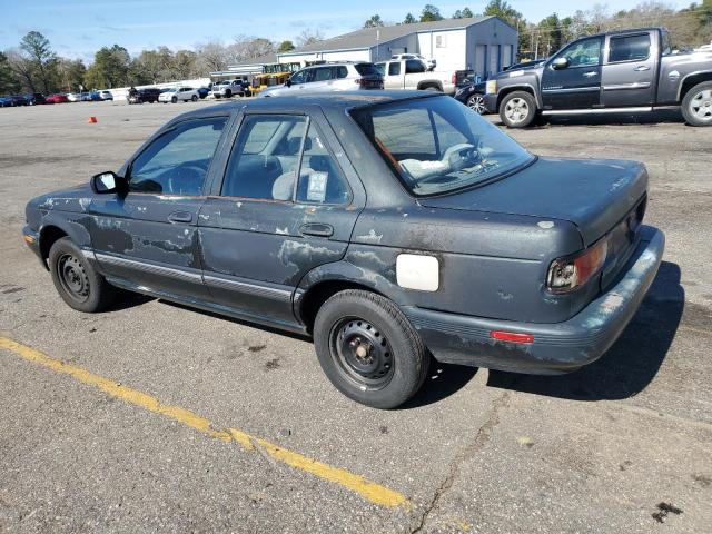
[[[429,354],[398,307],[359,289],[337,293],[314,323],[319,365],[332,384],[374,408],[400,406],[421,388]]]

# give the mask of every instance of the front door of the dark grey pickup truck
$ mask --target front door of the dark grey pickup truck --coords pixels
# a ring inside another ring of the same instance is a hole
[[[586,109],[601,105],[602,37],[572,42],[554,56],[542,75],[544,109]],[[566,58],[564,67],[555,61]]]

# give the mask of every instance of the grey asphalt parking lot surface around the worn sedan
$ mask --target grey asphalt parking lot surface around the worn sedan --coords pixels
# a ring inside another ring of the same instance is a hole
[[[29,198],[208,105],[0,109],[0,532],[710,532],[712,130],[673,115],[511,132],[647,165],[646,221],[668,238],[653,288],[575,374],[441,366],[378,412],[304,339],[142,297],[73,312],[26,248]]]

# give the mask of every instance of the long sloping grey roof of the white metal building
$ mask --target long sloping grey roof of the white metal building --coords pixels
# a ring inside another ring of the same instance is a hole
[[[330,39],[324,39],[323,41],[298,47],[288,52],[280,52],[279,56],[291,56],[296,53],[309,53],[320,52],[324,50],[352,50],[363,49],[376,46],[376,38],[379,43],[393,41],[400,37],[408,36],[411,33],[419,33],[423,31],[438,31],[438,30],[458,30],[468,28],[473,24],[484,22],[485,20],[494,18],[490,17],[475,17],[471,19],[445,19],[437,20],[435,22],[416,22],[415,24],[397,24],[397,26],[383,26],[377,28],[363,28],[360,30],[352,31],[343,36],[333,37]]]

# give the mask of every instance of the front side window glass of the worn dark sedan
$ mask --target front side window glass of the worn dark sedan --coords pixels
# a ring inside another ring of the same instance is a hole
[[[129,191],[200,195],[226,121],[190,120],[160,136],[131,164]]]

